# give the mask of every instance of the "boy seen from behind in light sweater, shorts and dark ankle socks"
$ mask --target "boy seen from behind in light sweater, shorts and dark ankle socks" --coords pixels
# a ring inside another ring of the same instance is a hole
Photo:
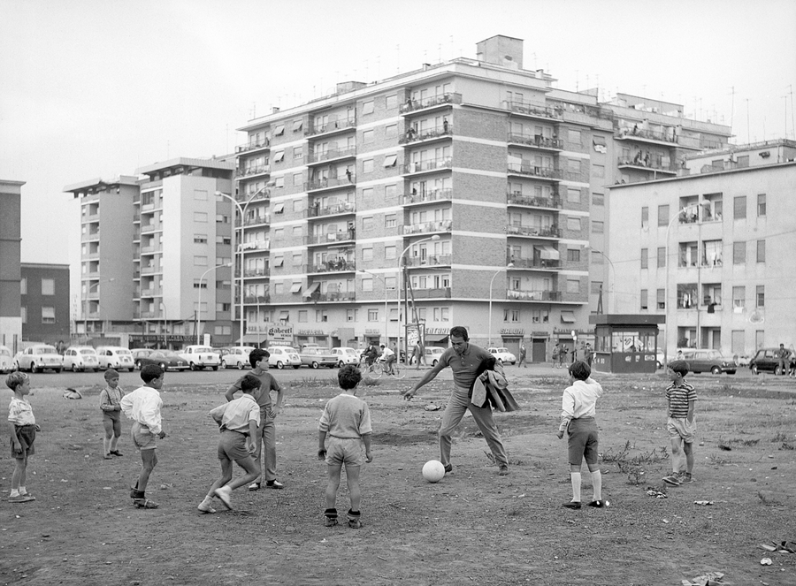
[[[337,490],[340,488],[340,473],[346,466],[348,496],[351,508],[348,510],[348,527],[359,529],[360,503],[362,491],[359,488],[359,473],[362,469],[362,446],[365,448],[365,461],[373,461],[371,454],[371,412],[364,400],[356,397],[356,385],[362,380],[362,373],[353,364],[342,367],[337,373],[337,381],[342,392],[329,400],[324,407],[318,423],[318,460],[326,461],[329,484],[326,486],[326,510],[324,525],[337,525]],[[325,445],[326,435],[329,445]]]

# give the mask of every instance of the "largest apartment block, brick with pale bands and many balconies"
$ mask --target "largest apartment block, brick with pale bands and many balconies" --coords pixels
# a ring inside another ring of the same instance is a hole
[[[356,346],[396,339],[401,316],[430,343],[463,324],[544,360],[596,309],[608,186],[729,136],[677,104],[554,88],[520,39],[477,49],[239,129],[247,336]]]

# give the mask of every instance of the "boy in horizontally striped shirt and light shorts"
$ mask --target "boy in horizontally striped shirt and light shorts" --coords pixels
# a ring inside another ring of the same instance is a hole
[[[666,400],[669,404],[669,421],[666,430],[671,440],[671,474],[663,477],[663,482],[672,486],[693,483],[693,434],[696,424],[693,419],[696,391],[685,381],[688,362],[676,360],[666,369],[671,384],[666,387]],[[680,470],[680,452],[685,453],[685,471]]]

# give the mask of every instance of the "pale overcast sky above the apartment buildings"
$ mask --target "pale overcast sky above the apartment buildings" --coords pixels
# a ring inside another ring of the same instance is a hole
[[[556,88],[685,105],[737,143],[796,138],[796,0],[0,0],[0,179],[22,262],[76,263],[64,186],[232,152],[273,106],[524,39]]]

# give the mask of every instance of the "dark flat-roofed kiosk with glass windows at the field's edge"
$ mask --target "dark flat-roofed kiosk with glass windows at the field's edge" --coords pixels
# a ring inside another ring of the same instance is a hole
[[[592,369],[598,372],[654,373],[658,347],[658,324],[665,316],[595,314],[594,358]]]

